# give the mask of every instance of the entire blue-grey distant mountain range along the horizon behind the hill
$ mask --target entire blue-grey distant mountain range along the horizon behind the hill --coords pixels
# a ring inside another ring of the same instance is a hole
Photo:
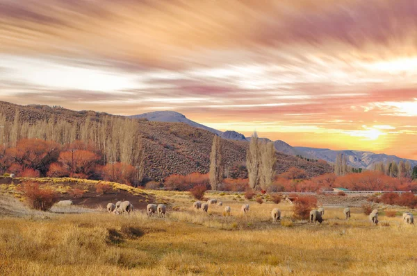
[[[213,128],[208,128],[200,123],[191,121],[187,119],[183,114],[172,111],[156,111],[149,112],[145,114],[139,114],[131,116],[131,118],[138,119],[148,119],[149,121],[162,121],[162,122],[177,122],[177,123],[186,123],[189,126],[195,128],[202,128],[210,132],[219,135],[223,139],[236,140],[236,141],[250,141],[251,137],[245,137],[243,134],[236,132],[234,130],[227,130],[222,132],[220,130],[215,130]],[[271,141],[268,138],[261,138],[264,141]],[[384,153],[371,153],[368,151],[360,150],[331,150],[329,148],[308,148],[303,146],[290,146],[285,141],[277,140],[274,141],[275,149],[286,155],[302,155],[303,157],[312,158],[312,159],[323,159],[327,162],[334,163],[336,162],[336,157],[339,153],[342,153],[347,157],[347,164],[354,166],[356,168],[362,169],[372,169],[373,164],[378,162],[387,162],[395,161],[404,162],[409,160],[412,166],[417,166],[417,161],[412,159],[403,159],[395,155],[386,155]]]

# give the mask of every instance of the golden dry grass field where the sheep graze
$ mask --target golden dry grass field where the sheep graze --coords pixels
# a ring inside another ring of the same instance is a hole
[[[382,213],[375,227],[360,209],[345,221],[343,207],[328,207],[322,225],[311,225],[294,221],[288,203],[217,194],[223,207],[203,214],[186,193],[156,195],[179,211],[165,219],[144,210],[0,218],[0,275],[416,275],[417,230],[400,212]],[[274,207],[281,222],[272,223]]]

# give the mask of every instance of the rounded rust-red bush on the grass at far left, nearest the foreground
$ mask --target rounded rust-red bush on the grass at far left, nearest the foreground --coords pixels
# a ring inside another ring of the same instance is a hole
[[[40,188],[38,183],[28,182],[19,188],[26,202],[32,209],[48,211],[58,202],[56,192],[50,188]]]

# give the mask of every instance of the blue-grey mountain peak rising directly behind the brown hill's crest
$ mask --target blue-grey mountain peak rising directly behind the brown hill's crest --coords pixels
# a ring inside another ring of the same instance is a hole
[[[158,121],[158,122],[165,122],[165,123],[186,123],[188,126],[192,126],[193,128],[201,128],[203,130],[208,130],[209,132],[215,133],[216,135],[221,136],[222,132],[220,130],[215,130],[214,128],[208,128],[208,126],[204,126],[201,123],[196,123],[195,121],[191,121],[183,114],[174,111],[155,111],[155,112],[148,112],[144,114],[138,114],[129,116],[133,119],[147,119],[148,121]]]

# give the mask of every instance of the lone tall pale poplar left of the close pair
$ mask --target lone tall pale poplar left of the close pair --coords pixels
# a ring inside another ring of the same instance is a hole
[[[222,139],[218,135],[213,137],[210,154],[210,184],[212,190],[217,190],[222,183],[224,166],[222,162]]]

